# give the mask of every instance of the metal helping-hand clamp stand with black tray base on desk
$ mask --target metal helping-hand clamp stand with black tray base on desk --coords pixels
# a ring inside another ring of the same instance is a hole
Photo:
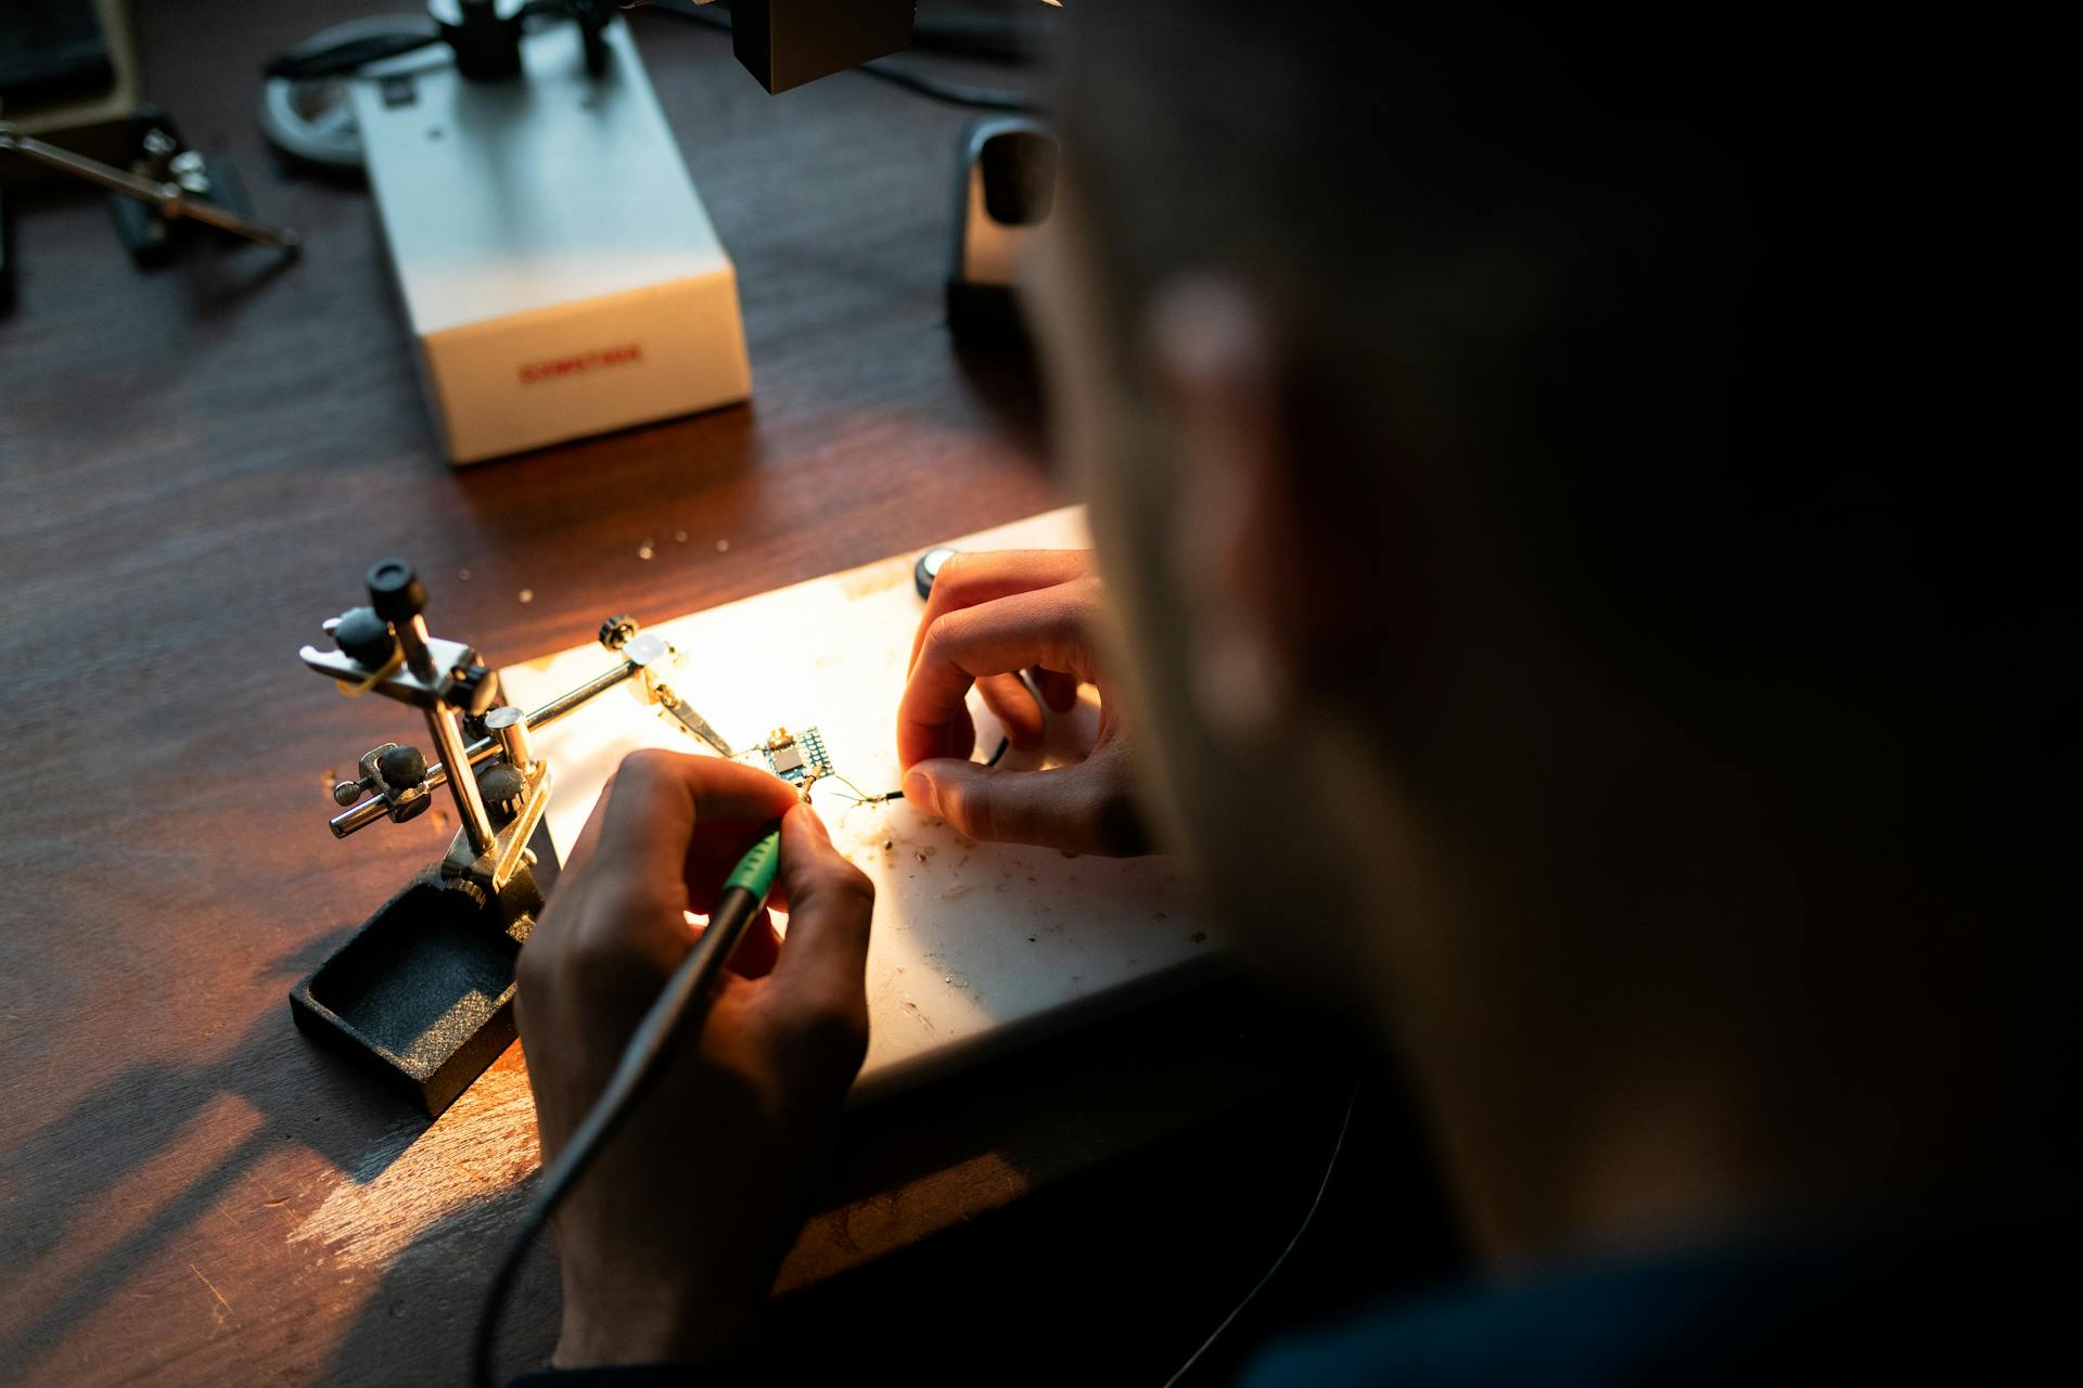
[[[446,785],[460,828],[437,864],[290,991],[298,1028],[373,1065],[429,1115],[446,1109],[515,1038],[515,957],[556,876],[544,826],[550,764],[531,735],[602,693],[631,685],[679,726],[723,753],[729,745],[662,674],[679,653],[627,616],[602,624],[621,664],[535,712],[500,701],[500,680],[477,651],[427,631],[427,589],[404,560],[369,568],[369,606],[325,622],[335,649],[302,647],[308,668],[348,693],[417,708],[437,762],[419,747],[381,743],[333,785],[335,839],[425,814]],[[458,774],[458,768],[467,774]]]

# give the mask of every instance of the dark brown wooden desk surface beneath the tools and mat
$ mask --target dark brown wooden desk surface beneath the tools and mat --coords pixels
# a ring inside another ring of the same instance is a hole
[[[406,728],[296,647],[375,556],[412,558],[435,628],[506,662],[614,610],[689,612],[1064,497],[1019,375],[964,364],[942,327],[967,112],[856,75],[769,98],[725,37],[639,21],[737,260],[754,404],[456,472],[369,196],[283,177],[252,121],[260,62],[356,6],[140,8],[148,96],[231,154],[306,254],[140,275],[100,198],[21,206],[0,320],[0,1380],[456,1382],[535,1163],[525,1072],[508,1051],[429,1128],[290,1026],[290,984],[444,837],[427,816],[331,841],[327,787]],[[892,1251],[1277,1093],[1308,1053],[1191,1003],[1123,1026],[850,1120],[783,1290],[858,1286]],[[1306,1167],[1323,1147],[1304,1136],[1287,1147]],[[1216,1176],[1146,1172],[1119,1199],[1191,1230]],[[1229,1280],[1152,1367],[1248,1284],[1294,1199],[1231,1261],[1175,1246]],[[1225,1228],[1252,1209],[1233,1199]],[[1017,1240],[962,1246],[971,1267],[1042,1265]],[[1104,1332],[1091,1286],[1044,1307],[1048,1336],[1064,1315]],[[546,1353],[554,1301],[542,1253],[510,1365]],[[833,1323],[831,1299],[798,1301],[800,1326]],[[967,1380],[967,1344],[939,1328],[904,1373]]]

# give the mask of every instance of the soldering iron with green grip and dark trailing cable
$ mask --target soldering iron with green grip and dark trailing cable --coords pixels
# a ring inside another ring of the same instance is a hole
[[[717,909],[708,914],[708,926],[696,939],[687,957],[679,961],[679,968],[673,970],[673,976],[658,993],[658,1001],[637,1022],[635,1034],[623,1047],[623,1059],[614,1065],[608,1086],[600,1090],[600,1099],[594,1101],[585,1122],[579,1124],[571,1140],[564,1142],[564,1151],[544,1172],[542,1186],[535,1188],[535,1199],[521,1222],[521,1232],[492,1278],[483,1315],[477,1317],[473,1367],[477,1382],[485,1388],[496,1384],[492,1376],[492,1351],[498,1338],[500,1311],[506,1307],[515,1274],[521,1271],[521,1259],[527,1257],[529,1244],[550,1224],[550,1215],[556,1213],[558,1203],[562,1203],[571,1186],[594,1163],[594,1157],[600,1155],[602,1145],[629,1117],[637,1095],[656,1078],[660,1061],[673,1053],[673,1043],[681,1030],[692,1026],[700,1032],[702,1022],[708,1018],[708,1003],[717,997],[717,976],[723,972],[723,963],[737,951],[737,943],[746,939],[746,928],[758,920],[760,907],[767,905],[767,893],[773,891],[779,866],[781,824],[773,824],[760,834],[758,843],[746,849],[746,855],[731,868],[731,876],[723,878],[723,893],[717,897]]]

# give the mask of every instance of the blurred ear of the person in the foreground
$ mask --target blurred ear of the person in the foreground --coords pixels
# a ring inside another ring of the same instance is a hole
[[[1296,533],[1279,335],[1241,285],[1196,277],[1152,298],[1146,337],[1175,445],[1164,543],[1189,691],[1214,730],[1264,739],[1304,676],[1294,618],[1306,593],[1289,560],[1306,537]]]

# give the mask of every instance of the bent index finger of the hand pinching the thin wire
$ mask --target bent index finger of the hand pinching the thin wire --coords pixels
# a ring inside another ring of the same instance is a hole
[[[933,622],[898,705],[898,764],[962,757],[975,747],[969,687],[985,674],[1027,666],[1096,678],[1085,626],[1098,601],[1096,581],[1014,593]],[[960,732],[969,730],[969,739]]]

